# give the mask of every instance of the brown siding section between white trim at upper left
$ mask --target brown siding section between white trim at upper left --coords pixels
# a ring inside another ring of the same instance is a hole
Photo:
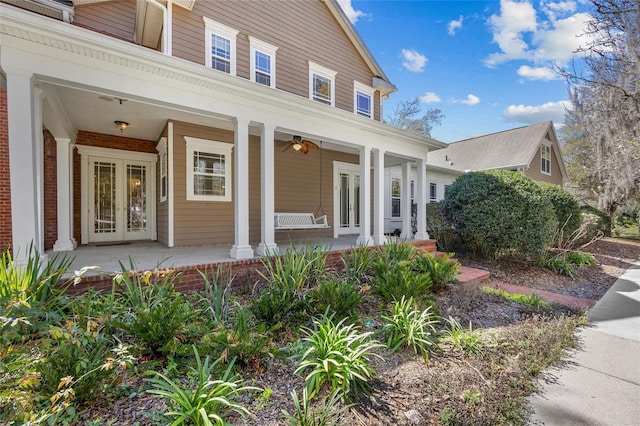
[[[76,6],[73,9],[73,23],[133,41],[136,2],[135,0],[121,0]]]

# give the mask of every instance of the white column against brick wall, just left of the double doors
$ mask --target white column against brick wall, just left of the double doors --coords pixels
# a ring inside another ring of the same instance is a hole
[[[73,240],[73,145],[71,139],[56,138],[56,178],[58,201],[58,239],[53,251],[70,251]]]

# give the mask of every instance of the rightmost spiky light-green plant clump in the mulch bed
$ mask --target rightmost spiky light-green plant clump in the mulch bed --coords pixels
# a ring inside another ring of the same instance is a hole
[[[431,312],[431,307],[420,311],[413,306],[413,298],[402,297],[393,304],[390,315],[383,315],[382,320],[385,321],[382,333],[391,353],[407,346],[427,360],[429,352],[438,349],[435,325],[440,321]]]

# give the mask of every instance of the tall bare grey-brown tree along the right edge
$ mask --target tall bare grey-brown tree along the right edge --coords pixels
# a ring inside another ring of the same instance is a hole
[[[562,71],[573,103],[565,148],[574,183],[613,215],[640,195],[640,5],[591,2],[585,71]]]

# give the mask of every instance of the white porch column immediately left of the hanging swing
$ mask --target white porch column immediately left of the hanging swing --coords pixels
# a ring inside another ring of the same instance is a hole
[[[277,255],[275,243],[275,160],[274,131],[272,124],[263,124],[260,128],[260,244],[257,252],[260,256]]]

